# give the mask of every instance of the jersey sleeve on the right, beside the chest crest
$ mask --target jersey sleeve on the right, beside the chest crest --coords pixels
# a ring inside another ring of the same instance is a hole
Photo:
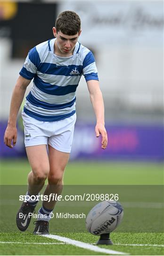
[[[95,63],[95,58],[90,51],[84,58],[82,63],[82,73],[86,82],[89,80],[98,80],[98,70]]]

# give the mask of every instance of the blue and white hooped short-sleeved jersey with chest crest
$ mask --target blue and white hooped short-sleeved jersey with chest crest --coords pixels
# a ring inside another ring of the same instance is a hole
[[[86,82],[98,80],[92,52],[76,43],[74,54],[60,57],[54,54],[56,38],[30,50],[20,75],[33,79],[26,97],[24,111],[41,121],[58,121],[75,113],[75,91],[82,74]]]

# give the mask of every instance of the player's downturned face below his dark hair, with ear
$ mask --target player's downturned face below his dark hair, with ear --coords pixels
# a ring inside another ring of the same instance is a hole
[[[81,31],[73,36],[68,36],[63,34],[61,31],[56,31],[56,28],[53,27],[53,34],[56,37],[56,45],[57,45],[57,52],[63,56],[70,56],[74,52],[75,44],[78,40],[78,37],[81,34]]]

